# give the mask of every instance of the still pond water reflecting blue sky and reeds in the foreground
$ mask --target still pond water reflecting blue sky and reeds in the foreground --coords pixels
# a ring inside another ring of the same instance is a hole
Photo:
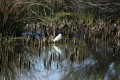
[[[120,80],[118,47],[100,45],[84,39],[42,47],[1,44],[0,80]]]

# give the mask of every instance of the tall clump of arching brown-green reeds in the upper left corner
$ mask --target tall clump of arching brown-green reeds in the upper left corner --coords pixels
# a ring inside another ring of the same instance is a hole
[[[46,4],[35,0],[1,0],[0,33],[3,36],[21,36],[23,28],[28,22],[40,21],[41,16],[45,15],[46,12],[42,13],[43,9],[41,8],[52,12]],[[37,9],[40,9],[41,13],[38,13]]]

